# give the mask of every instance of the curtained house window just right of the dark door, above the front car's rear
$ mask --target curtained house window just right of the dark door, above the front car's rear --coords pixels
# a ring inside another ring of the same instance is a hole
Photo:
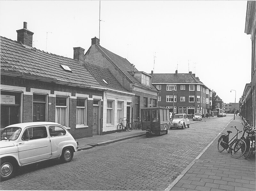
[[[55,121],[62,126],[68,126],[68,97],[56,97]]]

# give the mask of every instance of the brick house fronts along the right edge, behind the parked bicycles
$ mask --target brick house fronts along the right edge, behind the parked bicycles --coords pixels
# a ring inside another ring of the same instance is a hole
[[[252,41],[252,62],[251,62],[251,83],[246,84],[243,96],[240,99],[241,117],[256,127],[256,2],[247,1],[245,18],[246,34],[251,34]]]

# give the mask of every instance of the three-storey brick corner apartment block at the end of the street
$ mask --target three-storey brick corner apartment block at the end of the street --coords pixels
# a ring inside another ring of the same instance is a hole
[[[202,115],[212,110],[212,90],[192,72],[154,73],[152,84],[160,90],[158,106],[170,108],[170,112]],[[173,100],[174,97],[174,100]],[[174,101],[174,102],[173,102]]]

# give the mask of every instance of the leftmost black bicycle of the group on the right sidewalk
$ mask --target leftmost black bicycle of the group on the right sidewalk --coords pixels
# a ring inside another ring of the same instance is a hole
[[[236,126],[231,126],[231,127],[236,128]],[[229,130],[227,130],[228,134],[221,133],[221,136],[218,140],[218,151],[222,152],[224,149],[227,150],[229,148],[227,152],[230,153],[230,155],[233,158],[242,157],[246,150],[246,143],[244,142],[242,137],[241,139],[237,138],[238,133],[242,133],[242,131],[239,131],[237,128],[236,128],[236,131],[237,131],[236,135],[230,141],[229,141],[229,134],[232,133],[232,131],[229,131]]]

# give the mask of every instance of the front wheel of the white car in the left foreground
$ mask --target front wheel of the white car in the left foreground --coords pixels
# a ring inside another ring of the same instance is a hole
[[[13,177],[16,172],[16,162],[11,159],[3,159],[1,161],[1,181],[8,180]]]

